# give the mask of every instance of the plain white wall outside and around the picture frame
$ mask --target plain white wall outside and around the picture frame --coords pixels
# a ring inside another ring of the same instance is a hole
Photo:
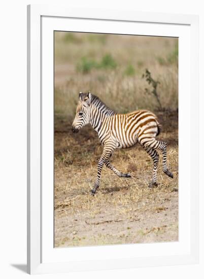
[[[204,9],[202,0],[75,0],[46,1],[41,4],[67,5],[72,7],[108,8],[136,10],[144,12],[198,14],[200,33],[199,77],[200,77],[200,119],[204,118],[203,62],[204,62]],[[26,263],[26,5],[37,1],[7,1],[1,4],[1,223],[0,223],[0,276],[2,278],[24,278]],[[202,51],[201,51],[202,50]],[[202,127],[203,121],[202,121]],[[204,142],[203,128],[200,143]],[[198,141],[195,139],[195,144]],[[204,165],[202,164],[203,147],[200,144],[200,181]],[[200,183],[200,236],[204,237],[203,187]],[[113,271],[92,271],[61,274],[33,275],[38,278],[188,278],[204,277],[204,247],[200,237],[200,263],[196,265],[121,269]]]

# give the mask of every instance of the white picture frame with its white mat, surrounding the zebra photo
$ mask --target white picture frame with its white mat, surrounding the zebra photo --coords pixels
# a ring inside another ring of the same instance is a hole
[[[53,247],[51,45],[54,30],[108,31],[181,38],[178,242],[63,249]],[[27,50],[27,272],[53,273],[197,263],[198,146],[193,139],[198,137],[198,17],[29,5]]]

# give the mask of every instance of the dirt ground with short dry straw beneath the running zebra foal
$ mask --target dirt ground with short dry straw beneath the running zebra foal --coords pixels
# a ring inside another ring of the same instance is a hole
[[[55,247],[178,241],[178,113],[157,113],[167,142],[168,178],[158,169],[158,187],[148,188],[153,164],[136,145],[116,150],[113,165],[132,178],[118,178],[104,167],[95,196],[97,161],[103,147],[90,126],[78,134],[71,119],[55,118]]]

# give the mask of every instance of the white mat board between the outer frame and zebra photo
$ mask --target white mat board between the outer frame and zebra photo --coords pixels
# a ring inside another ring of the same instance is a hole
[[[161,19],[159,19],[161,20]],[[191,145],[190,137],[186,138],[186,130],[190,122],[190,27],[174,24],[149,24],[132,22],[113,22],[92,20],[76,20],[70,18],[42,18],[42,262],[69,262],[88,260],[105,260],[123,258],[150,257],[152,255],[181,255],[190,252],[190,181],[186,176],[190,172],[190,161],[185,160],[179,166],[179,241],[168,243],[152,243],[122,246],[93,246],[68,249],[53,249],[53,30],[66,30],[72,26],[74,31],[110,32],[148,34],[158,36],[179,37],[179,90],[185,92],[179,96],[179,156],[185,158],[186,150]],[[136,30],[136,31],[135,31]],[[31,92],[35,92],[32,91]],[[49,123],[49,124],[48,124]],[[182,123],[182,125],[181,125]],[[193,166],[193,165],[192,165]],[[129,262],[131,259],[129,259]],[[134,260],[135,261],[135,260]],[[164,261],[165,262],[165,261]],[[175,262],[177,262],[175,260]],[[152,260],[153,263],[153,260]],[[88,265],[88,264],[87,264]],[[97,263],[95,263],[97,265]],[[153,264],[152,264],[153,265]],[[163,265],[160,261],[160,265]],[[139,264],[138,264],[139,266]],[[148,266],[148,264],[147,264]],[[89,269],[89,268],[87,268]]]

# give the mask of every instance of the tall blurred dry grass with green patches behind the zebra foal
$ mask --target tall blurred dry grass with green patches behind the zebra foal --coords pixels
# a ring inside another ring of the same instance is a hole
[[[148,68],[160,82],[164,109],[178,108],[178,39],[55,32],[55,116],[74,117],[79,91],[91,90],[120,113],[157,111],[142,78]]]

